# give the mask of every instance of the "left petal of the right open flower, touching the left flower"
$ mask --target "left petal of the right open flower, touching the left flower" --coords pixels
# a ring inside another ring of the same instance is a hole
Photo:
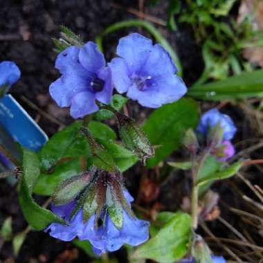
[[[119,93],[127,92],[132,82],[129,78],[129,69],[125,60],[116,57],[109,63],[109,68],[111,69],[112,81],[116,90]]]

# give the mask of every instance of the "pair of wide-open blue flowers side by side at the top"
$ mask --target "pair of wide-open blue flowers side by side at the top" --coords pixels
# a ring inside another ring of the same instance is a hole
[[[71,107],[73,118],[82,118],[98,111],[97,100],[109,104],[114,87],[150,108],[186,93],[169,53],[152,40],[132,33],[120,39],[117,55],[107,66],[93,42],[66,48],[55,62],[62,76],[51,84],[51,97],[60,107]]]

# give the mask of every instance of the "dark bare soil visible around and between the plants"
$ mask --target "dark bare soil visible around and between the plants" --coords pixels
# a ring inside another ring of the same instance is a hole
[[[128,0],[0,0],[0,61],[12,60],[16,62],[22,73],[21,80],[12,87],[11,93],[25,107],[30,116],[37,120],[48,136],[54,134],[61,125],[44,118],[42,114],[39,114],[39,111],[46,111],[63,124],[72,121],[68,111],[59,109],[48,95],[49,85],[59,76],[54,68],[57,54],[53,51],[52,38],[59,37],[59,26],[64,25],[78,33],[84,41],[94,40],[103,29],[116,21],[134,18],[133,15],[129,15],[129,12],[114,8],[111,5],[113,2],[124,8],[138,8],[137,1]],[[147,8],[147,12],[166,19],[165,3],[158,4],[155,8]],[[104,43],[108,59],[114,55],[118,38],[132,30],[136,29],[125,29],[106,37]],[[181,58],[185,82],[189,85],[192,84],[201,74],[203,61],[201,48],[195,44],[191,28],[179,25],[176,33],[165,28],[161,28],[161,32],[176,48]],[[30,107],[22,96],[30,100],[39,110]],[[131,115],[135,117],[138,107],[130,105],[129,109]],[[244,118],[240,111],[235,112],[230,107],[228,110],[235,113],[235,118]],[[143,114],[145,116],[145,112]],[[253,136],[249,136],[249,132],[245,136],[245,138],[251,137],[253,138]],[[138,181],[143,174],[141,167],[136,165],[131,174],[132,176],[129,178],[133,179],[127,179],[127,186],[131,189],[132,194],[136,195]],[[152,178],[154,177],[152,174],[154,174],[153,171],[145,176]],[[253,179],[262,185],[262,181],[258,181],[257,176],[253,176]],[[172,189],[170,185],[172,185]],[[180,207],[183,196],[189,195],[190,184],[189,181],[182,179],[181,174],[175,173],[163,183],[160,191],[154,180],[148,181],[147,186],[149,192],[156,198],[140,197],[146,208],[175,210]],[[215,188],[223,194],[225,202],[229,203],[229,200],[232,199],[234,205],[233,190],[230,186],[222,186],[217,183]],[[158,193],[160,194],[158,195]],[[0,197],[0,226],[8,216],[11,216],[14,232],[18,233],[24,230],[27,224],[19,209],[15,187],[2,180],[0,182]],[[235,206],[237,205],[239,206],[238,202],[235,203]],[[224,212],[224,206],[222,206],[222,210]],[[238,220],[233,216],[231,219],[233,224]],[[215,223],[212,223],[211,227],[215,230],[216,235],[226,231]],[[117,255],[120,262],[125,263],[123,259],[125,251],[120,250]],[[71,243],[60,242],[42,232],[30,232],[19,256],[16,260],[14,258],[12,244],[9,242],[1,246],[0,241],[0,262],[91,262],[84,252],[75,248]],[[8,259],[10,261],[7,261]]]

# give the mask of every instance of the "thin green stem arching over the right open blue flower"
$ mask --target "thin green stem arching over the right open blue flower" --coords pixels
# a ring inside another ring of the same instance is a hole
[[[116,30],[120,30],[123,28],[131,27],[131,26],[136,26],[136,27],[141,26],[145,28],[145,30],[147,30],[154,37],[154,39],[156,39],[156,42],[160,43],[166,49],[166,51],[170,53],[172,60],[174,60],[178,68],[178,75],[181,75],[181,76],[183,75],[183,69],[181,66],[181,62],[179,60],[179,57],[174,52],[174,48],[172,48],[172,46],[169,44],[169,42],[167,42],[165,37],[161,35],[160,31],[148,21],[144,21],[140,19],[131,19],[131,20],[120,21],[115,24],[112,24],[111,26],[106,28],[104,31],[102,31],[102,33],[100,33],[98,37],[96,37],[96,43],[98,44],[100,51],[103,50],[102,41],[105,35],[112,33]]]

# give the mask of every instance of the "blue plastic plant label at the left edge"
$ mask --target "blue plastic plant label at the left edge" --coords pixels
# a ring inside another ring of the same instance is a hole
[[[0,124],[15,141],[34,151],[39,150],[48,136],[10,94],[0,100]]]

